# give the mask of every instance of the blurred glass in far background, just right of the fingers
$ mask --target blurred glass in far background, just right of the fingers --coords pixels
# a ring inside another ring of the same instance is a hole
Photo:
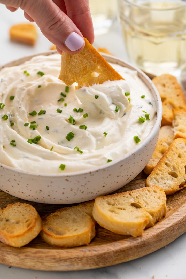
[[[107,33],[116,21],[117,0],[89,0],[95,35]]]

